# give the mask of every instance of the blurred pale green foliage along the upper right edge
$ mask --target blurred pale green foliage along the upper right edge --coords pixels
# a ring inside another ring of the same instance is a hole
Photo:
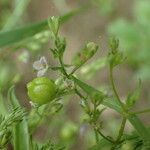
[[[135,0],[132,19],[118,18],[108,26],[108,33],[119,38],[129,64],[137,77],[150,79],[150,1]]]

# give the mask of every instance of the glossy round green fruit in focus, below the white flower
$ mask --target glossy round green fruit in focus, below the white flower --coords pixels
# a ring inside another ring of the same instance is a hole
[[[56,95],[55,83],[46,77],[38,77],[29,82],[27,90],[30,100],[38,105],[52,101]]]

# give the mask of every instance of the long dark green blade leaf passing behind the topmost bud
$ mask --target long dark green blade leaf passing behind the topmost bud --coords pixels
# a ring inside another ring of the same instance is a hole
[[[80,12],[80,10],[81,9],[77,9],[63,16],[60,16],[60,23],[63,24],[64,22],[68,21],[70,18]],[[24,27],[10,31],[2,31],[0,32],[0,47],[10,46],[44,30],[48,30],[47,20],[31,25],[26,25]]]

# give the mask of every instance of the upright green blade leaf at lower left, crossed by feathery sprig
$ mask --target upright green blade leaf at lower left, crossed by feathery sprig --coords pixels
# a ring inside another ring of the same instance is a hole
[[[14,87],[9,89],[8,98],[12,109],[21,107],[15,96]],[[22,122],[14,126],[13,139],[15,150],[29,150],[29,132],[26,117],[23,118]]]

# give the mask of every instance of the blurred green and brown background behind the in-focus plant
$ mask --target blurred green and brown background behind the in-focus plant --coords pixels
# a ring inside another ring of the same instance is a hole
[[[126,63],[115,71],[119,94],[124,98],[142,80],[142,93],[135,110],[150,106],[150,1],[149,0],[0,0],[0,29],[3,32],[39,22],[49,16],[63,15],[84,7],[84,11],[73,16],[61,27],[61,34],[67,39],[65,62],[71,63],[73,55],[84,43],[94,41],[100,46],[98,54],[78,72],[81,79],[100,89],[110,89],[108,68],[105,58],[109,50],[108,39],[116,36],[120,49],[127,57]],[[16,84],[16,93],[22,105],[30,109],[26,84],[36,77],[32,64],[40,56],[46,56],[51,66],[56,65],[48,49],[52,46],[48,30],[21,40],[10,46],[0,47],[0,100],[6,100],[6,93]],[[57,79],[55,72],[47,73]],[[61,139],[68,149],[84,150],[94,145],[92,129],[84,123],[86,116],[79,106],[77,97],[63,99],[64,108],[56,116],[50,116],[43,126],[35,131],[40,142],[46,139]],[[150,125],[148,114],[141,115]],[[112,110],[103,114],[106,134],[115,135],[120,118]],[[111,124],[109,124],[111,122]],[[126,129],[132,130],[130,124]],[[59,137],[59,138],[57,138]],[[68,142],[69,141],[69,142]],[[126,148],[125,148],[126,149]]]

